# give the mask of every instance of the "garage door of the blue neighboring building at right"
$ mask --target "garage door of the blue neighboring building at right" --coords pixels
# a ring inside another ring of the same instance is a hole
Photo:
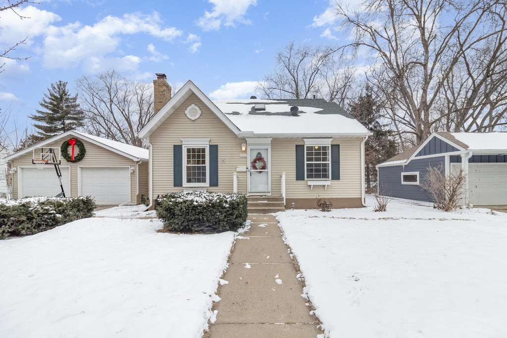
[[[468,180],[470,203],[507,205],[507,163],[470,163]]]

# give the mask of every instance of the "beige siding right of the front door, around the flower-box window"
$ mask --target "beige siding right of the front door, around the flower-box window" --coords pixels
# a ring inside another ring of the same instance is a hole
[[[296,180],[296,144],[302,138],[273,139],[271,141],[273,195],[281,194],[281,174],[285,172],[285,192],[290,198],[354,198],[361,197],[361,141],[362,138],[334,138],[331,144],[340,144],[340,179],[332,180],[327,190],[323,185]]]

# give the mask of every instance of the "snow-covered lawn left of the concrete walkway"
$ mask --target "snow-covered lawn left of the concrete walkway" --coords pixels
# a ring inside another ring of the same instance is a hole
[[[0,337],[201,337],[234,233],[97,214],[0,241]]]

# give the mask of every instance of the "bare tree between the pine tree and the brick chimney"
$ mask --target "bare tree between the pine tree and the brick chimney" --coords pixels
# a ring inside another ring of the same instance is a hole
[[[137,132],[153,117],[151,84],[128,81],[115,70],[77,82],[86,132],[142,146]]]

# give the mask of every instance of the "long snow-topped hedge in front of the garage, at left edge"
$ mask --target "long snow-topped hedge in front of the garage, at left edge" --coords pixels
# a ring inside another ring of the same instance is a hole
[[[91,197],[34,197],[0,201],[0,238],[33,235],[62,224],[93,216]]]

